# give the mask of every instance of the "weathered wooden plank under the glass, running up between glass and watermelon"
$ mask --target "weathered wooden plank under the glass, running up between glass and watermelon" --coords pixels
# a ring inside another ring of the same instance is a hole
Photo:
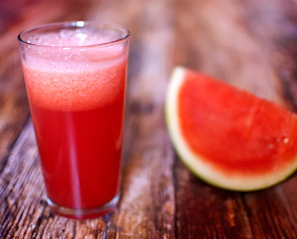
[[[163,119],[173,37],[170,13],[159,16],[155,11],[170,8],[169,2],[158,0],[94,1],[85,15],[126,25],[132,32],[119,208],[87,221],[50,212],[29,122],[1,175],[0,202],[5,207],[0,210],[0,237],[174,238],[172,149]]]

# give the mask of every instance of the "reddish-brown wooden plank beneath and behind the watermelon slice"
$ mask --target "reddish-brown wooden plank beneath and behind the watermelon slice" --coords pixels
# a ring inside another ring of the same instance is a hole
[[[273,16],[271,8],[277,5],[268,7],[273,5],[269,0],[266,5],[256,0],[253,3],[247,7],[234,0],[178,0],[176,63],[288,106],[275,65],[263,50],[271,39],[256,37],[247,27],[254,15],[245,17],[245,11],[256,6],[263,15]],[[252,24],[257,26],[258,22]],[[295,180],[259,192],[222,191],[199,181],[177,159],[177,238],[297,238],[296,204],[291,202],[297,201],[293,194]],[[289,198],[287,185],[292,192]]]

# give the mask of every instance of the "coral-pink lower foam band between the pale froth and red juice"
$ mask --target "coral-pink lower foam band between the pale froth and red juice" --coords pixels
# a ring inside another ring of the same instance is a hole
[[[126,60],[72,72],[24,66],[24,76],[32,104],[52,110],[87,110],[108,105],[122,96]]]

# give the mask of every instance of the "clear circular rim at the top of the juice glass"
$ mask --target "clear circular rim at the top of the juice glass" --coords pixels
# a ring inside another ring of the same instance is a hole
[[[110,29],[115,29],[115,30],[120,30],[124,33],[124,36],[113,40],[113,41],[109,41],[106,43],[98,43],[98,44],[92,44],[92,45],[86,45],[86,46],[46,46],[46,45],[38,45],[38,44],[33,44],[33,43],[28,43],[26,41],[24,41],[22,39],[22,35],[25,33],[30,33],[32,31],[35,30],[40,30],[40,29],[46,29],[46,28],[50,28],[50,27],[61,27],[61,28],[71,28],[71,27],[85,27],[86,25],[93,25],[93,26],[98,26],[98,27],[106,27],[106,28],[110,28]],[[95,22],[95,21],[65,21],[65,22],[54,22],[54,23],[47,23],[47,24],[43,24],[43,25],[39,25],[33,28],[29,28],[25,31],[22,31],[18,36],[17,36],[17,40],[19,43],[21,44],[25,44],[27,46],[34,46],[34,47],[42,47],[42,48],[66,48],[66,49],[80,49],[80,48],[93,48],[93,47],[107,47],[110,45],[114,45],[120,42],[125,41],[126,39],[128,39],[130,37],[131,33],[130,31],[118,24],[114,24],[114,23],[99,23],[99,22]]]

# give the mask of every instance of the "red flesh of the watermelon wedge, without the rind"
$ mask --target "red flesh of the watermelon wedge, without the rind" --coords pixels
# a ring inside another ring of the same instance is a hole
[[[209,76],[185,74],[177,100],[179,124],[200,160],[224,173],[247,175],[292,164],[295,114]]]

